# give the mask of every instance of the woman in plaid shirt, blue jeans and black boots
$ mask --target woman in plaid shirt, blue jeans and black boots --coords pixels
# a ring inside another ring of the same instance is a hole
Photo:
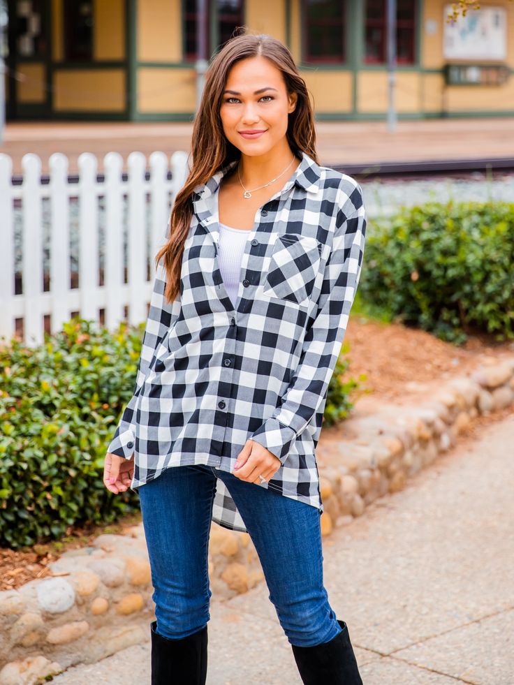
[[[250,534],[303,682],[362,684],[323,585],[315,455],[360,277],[361,189],[318,165],[307,87],[270,36],[213,57],[191,153],[105,457],[111,492],[144,485],[152,684],[205,683],[211,520]]]

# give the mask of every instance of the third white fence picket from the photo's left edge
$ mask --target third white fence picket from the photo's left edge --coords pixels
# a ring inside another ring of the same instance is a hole
[[[52,295],[51,331],[55,333],[70,318],[71,288],[68,158],[56,152],[48,160],[50,167],[50,293]]]

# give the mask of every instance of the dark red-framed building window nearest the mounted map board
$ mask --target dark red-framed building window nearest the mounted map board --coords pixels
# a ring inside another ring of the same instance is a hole
[[[398,64],[416,61],[416,0],[397,0],[396,40]],[[386,0],[366,0],[365,63],[386,64],[387,7]]]

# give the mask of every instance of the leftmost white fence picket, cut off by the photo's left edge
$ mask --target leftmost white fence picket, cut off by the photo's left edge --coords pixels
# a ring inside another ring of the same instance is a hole
[[[8,337],[14,330],[14,226],[13,191],[11,177],[13,161],[6,154],[0,154],[0,336]]]

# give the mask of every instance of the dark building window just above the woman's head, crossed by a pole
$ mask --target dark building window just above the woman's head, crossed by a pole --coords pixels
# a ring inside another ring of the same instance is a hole
[[[204,17],[207,36],[207,59],[226,43],[237,27],[244,24],[243,0],[207,0],[207,13]],[[195,61],[197,58],[196,33],[198,12],[196,0],[184,0],[184,59]]]

